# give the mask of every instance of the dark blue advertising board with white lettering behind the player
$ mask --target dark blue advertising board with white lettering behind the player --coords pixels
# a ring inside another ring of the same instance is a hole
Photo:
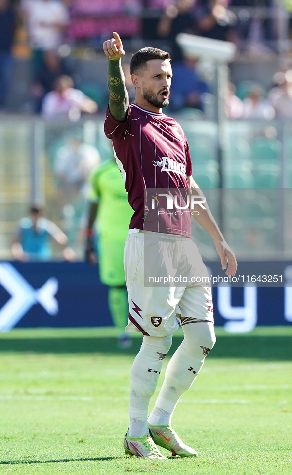
[[[219,283],[213,287],[215,324],[232,333],[249,332],[255,326],[292,325],[292,263],[253,266],[256,277],[263,269],[274,269],[275,275],[282,275],[282,286],[268,287],[259,280],[244,287]],[[218,262],[209,262],[209,275],[218,274],[218,268]],[[246,275],[248,268],[249,263],[240,262],[238,273]],[[15,326],[110,326],[107,291],[97,267],[83,262],[1,262],[0,331]]]

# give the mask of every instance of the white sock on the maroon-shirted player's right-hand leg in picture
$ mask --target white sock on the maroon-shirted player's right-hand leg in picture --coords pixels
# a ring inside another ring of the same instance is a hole
[[[170,359],[165,380],[156,400],[156,406],[172,414],[181,395],[187,391],[203,366],[205,356],[214,346],[216,337],[211,322],[195,322],[185,319],[182,323],[184,339]],[[154,418],[156,414],[153,413]],[[150,421],[152,413],[149,416]],[[153,425],[160,425],[153,424]]]

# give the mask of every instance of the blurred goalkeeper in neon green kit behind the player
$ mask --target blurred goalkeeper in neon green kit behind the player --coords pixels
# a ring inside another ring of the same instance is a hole
[[[114,159],[107,160],[91,172],[89,203],[85,259],[90,264],[99,263],[100,281],[109,286],[109,309],[113,323],[119,329],[118,346],[129,348],[132,339],[125,332],[129,307],[123,255],[133,210]]]

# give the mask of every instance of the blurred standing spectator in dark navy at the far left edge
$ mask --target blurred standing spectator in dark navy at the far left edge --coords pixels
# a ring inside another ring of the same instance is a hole
[[[0,107],[3,107],[12,67],[15,14],[9,0],[0,0]]]

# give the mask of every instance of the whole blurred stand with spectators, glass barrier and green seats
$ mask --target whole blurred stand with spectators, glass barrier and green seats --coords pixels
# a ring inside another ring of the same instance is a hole
[[[185,130],[194,176],[209,192],[215,216],[221,175],[224,187],[238,190],[224,205],[226,238],[237,255],[290,255],[292,220],[279,209],[286,203],[289,210],[292,202],[277,193],[292,186],[291,19],[290,0],[0,0],[0,258],[19,258],[17,236],[29,223],[19,220],[30,206],[66,233],[66,242],[58,241],[61,234],[42,216],[54,238],[53,258],[84,257],[89,175],[112,158],[103,134],[108,90],[102,43],[113,31],[125,47],[131,100],[131,54],[144,46],[171,53],[165,112]],[[224,137],[216,121],[215,65],[186,56],[176,42],[179,33],[237,47],[221,91]],[[196,233],[203,256],[214,258]],[[60,254],[60,244],[72,252]]]

